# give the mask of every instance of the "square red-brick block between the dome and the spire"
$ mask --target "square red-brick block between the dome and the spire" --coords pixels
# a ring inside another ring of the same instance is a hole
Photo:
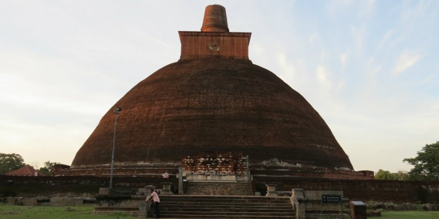
[[[179,31],[180,60],[199,58],[248,59],[251,33]]]

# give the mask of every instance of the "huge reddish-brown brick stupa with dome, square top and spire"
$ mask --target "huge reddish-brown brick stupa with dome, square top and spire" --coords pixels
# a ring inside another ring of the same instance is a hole
[[[186,156],[225,152],[248,155],[250,171],[264,167],[268,175],[287,168],[293,175],[363,177],[305,98],[249,60],[251,33],[229,32],[224,7],[206,7],[201,32],[179,35],[180,60],[111,107],[65,175],[109,174],[118,106],[116,175],[175,173]]]

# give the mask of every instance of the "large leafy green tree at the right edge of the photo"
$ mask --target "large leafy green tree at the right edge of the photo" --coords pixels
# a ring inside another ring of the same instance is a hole
[[[425,144],[421,151],[417,152],[415,158],[405,158],[414,166],[409,175],[413,179],[439,180],[439,141],[432,144]]]

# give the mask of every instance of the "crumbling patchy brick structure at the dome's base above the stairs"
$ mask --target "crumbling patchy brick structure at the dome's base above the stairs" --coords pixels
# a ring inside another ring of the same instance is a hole
[[[182,159],[184,173],[247,175],[247,158],[242,153],[200,153]]]

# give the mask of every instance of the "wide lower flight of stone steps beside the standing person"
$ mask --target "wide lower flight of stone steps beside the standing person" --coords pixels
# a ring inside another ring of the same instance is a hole
[[[151,207],[148,217],[154,215]],[[296,218],[289,197],[161,195],[162,218]]]

